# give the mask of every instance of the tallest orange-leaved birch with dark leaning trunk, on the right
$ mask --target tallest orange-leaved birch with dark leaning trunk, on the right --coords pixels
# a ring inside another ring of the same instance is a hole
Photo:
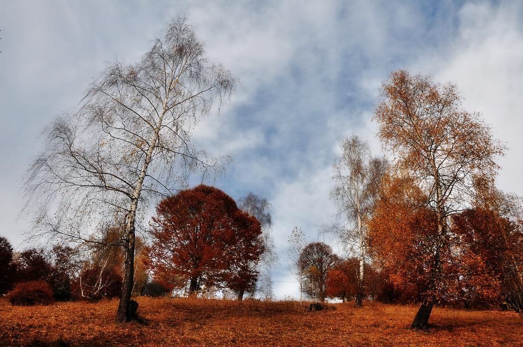
[[[450,217],[471,205],[474,181],[493,181],[494,159],[504,147],[493,140],[480,115],[462,109],[456,86],[440,85],[430,77],[406,71],[391,73],[383,83],[381,102],[374,111],[378,134],[396,156],[396,167],[406,172],[425,195],[423,206],[435,221],[430,238],[434,247],[427,264],[422,305],[412,328],[427,327],[440,299],[450,250]],[[394,249],[393,249],[394,251]]]

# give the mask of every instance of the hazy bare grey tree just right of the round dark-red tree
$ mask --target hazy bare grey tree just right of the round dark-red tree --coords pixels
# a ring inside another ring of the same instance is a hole
[[[247,196],[238,200],[238,207],[247,212],[249,215],[258,219],[261,226],[261,237],[265,251],[257,264],[253,264],[258,268],[259,276],[256,283],[255,292],[258,292],[265,299],[272,297],[272,282],[270,271],[274,269],[278,262],[278,255],[275,251],[274,238],[271,233],[272,219],[270,216],[270,203],[266,198],[260,198],[253,192],[249,192]]]

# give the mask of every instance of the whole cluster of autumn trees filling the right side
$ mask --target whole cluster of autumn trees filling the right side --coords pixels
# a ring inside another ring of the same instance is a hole
[[[504,145],[480,114],[462,109],[454,85],[402,70],[383,83],[374,121],[393,161],[372,157],[356,135],[343,140],[331,191],[337,219],[323,227],[353,258],[344,263],[326,245],[303,246],[294,229],[301,291],[320,300],[353,293],[356,306],[376,296],[419,303],[417,329],[436,304],[503,304],[521,313],[523,209],[495,186]]]

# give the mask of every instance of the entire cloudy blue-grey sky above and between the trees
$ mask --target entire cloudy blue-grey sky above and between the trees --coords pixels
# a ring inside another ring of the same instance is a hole
[[[214,184],[272,205],[277,297],[298,296],[287,237],[319,235],[340,138],[385,154],[372,112],[381,83],[406,68],[453,82],[508,146],[498,187],[523,195],[523,2],[462,1],[9,1],[0,3],[0,236],[23,249],[20,179],[43,127],[73,109],[116,59],[129,63],[166,22],[186,15],[207,55],[240,79],[228,107],[197,126],[194,143],[233,163]]]

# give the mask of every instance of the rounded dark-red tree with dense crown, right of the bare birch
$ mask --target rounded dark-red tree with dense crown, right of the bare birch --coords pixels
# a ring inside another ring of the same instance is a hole
[[[264,251],[259,222],[223,191],[204,185],[180,191],[158,204],[153,223],[147,265],[155,277],[175,287],[189,282],[189,295],[226,285],[240,298],[255,284],[251,265]]]

